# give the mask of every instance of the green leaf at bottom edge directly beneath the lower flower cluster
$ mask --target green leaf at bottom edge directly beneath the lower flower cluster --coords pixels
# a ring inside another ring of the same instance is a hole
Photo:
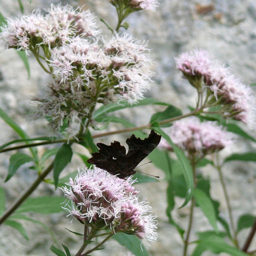
[[[145,246],[137,236],[118,232],[112,238],[122,246],[125,246],[135,256],[148,256]]]

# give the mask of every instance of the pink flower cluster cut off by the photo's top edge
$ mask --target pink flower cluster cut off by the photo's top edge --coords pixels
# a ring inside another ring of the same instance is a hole
[[[155,11],[159,5],[158,0],[109,0],[114,6],[126,6],[135,10],[152,10]]]

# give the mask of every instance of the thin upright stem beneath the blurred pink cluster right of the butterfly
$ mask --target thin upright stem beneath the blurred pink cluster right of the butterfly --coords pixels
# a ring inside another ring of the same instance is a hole
[[[194,187],[196,187],[196,162],[195,162],[194,159],[191,160],[191,166],[192,166],[192,171],[193,171]],[[191,233],[191,229],[192,229],[195,204],[196,204],[196,200],[193,196],[192,200],[191,200],[191,205],[190,205],[190,213],[189,213],[189,220],[188,220],[188,231],[187,231],[187,234],[186,234],[186,238],[184,240],[183,256],[186,256],[187,251],[188,251],[189,238],[190,238],[190,233]]]

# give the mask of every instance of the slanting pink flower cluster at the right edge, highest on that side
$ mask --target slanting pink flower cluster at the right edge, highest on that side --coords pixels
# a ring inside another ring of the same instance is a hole
[[[223,106],[224,116],[245,124],[254,123],[255,100],[252,90],[240,82],[220,62],[213,60],[205,50],[185,52],[175,58],[176,67],[196,88],[204,86],[212,94],[208,103],[218,102]]]

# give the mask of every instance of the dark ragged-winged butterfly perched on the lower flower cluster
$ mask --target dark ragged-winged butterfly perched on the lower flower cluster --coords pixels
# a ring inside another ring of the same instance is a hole
[[[92,158],[87,162],[107,172],[125,179],[136,173],[134,168],[159,144],[161,135],[151,130],[148,138],[144,140],[136,138],[134,134],[126,140],[128,152],[118,141],[112,142],[109,146],[103,143],[96,145],[99,152],[92,153]]]

